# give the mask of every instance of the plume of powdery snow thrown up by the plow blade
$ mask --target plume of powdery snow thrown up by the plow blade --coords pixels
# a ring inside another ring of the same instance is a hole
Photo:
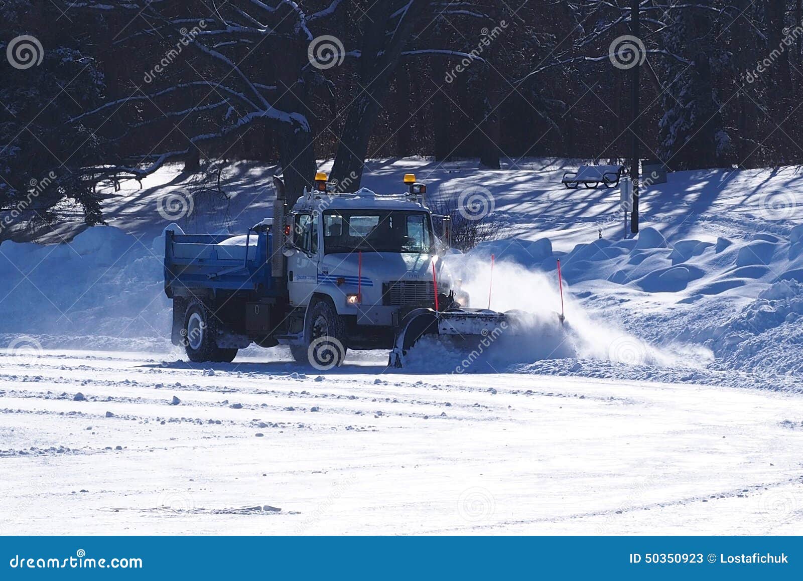
[[[600,359],[632,365],[700,367],[709,351],[686,345],[656,347],[599,315],[589,315],[573,299],[556,271],[530,270],[517,262],[496,262],[463,255],[450,262],[455,278],[470,296],[470,307],[506,312],[509,323],[488,335],[426,339],[410,351],[408,367],[446,371],[497,372],[513,364],[549,359]],[[492,278],[492,280],[491,280]],[[498,332],[497,332],[498,331]],[[457,344],[459,343],[459,344]]]

